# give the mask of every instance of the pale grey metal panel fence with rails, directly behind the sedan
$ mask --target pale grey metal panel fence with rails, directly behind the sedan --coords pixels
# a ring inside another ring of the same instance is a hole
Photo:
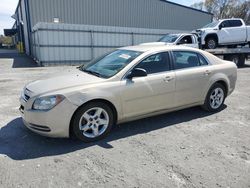
[[[158,40],[180,30],[38,23],[32,29],[32,56],[43,65],[89,62],[112,49]]]

